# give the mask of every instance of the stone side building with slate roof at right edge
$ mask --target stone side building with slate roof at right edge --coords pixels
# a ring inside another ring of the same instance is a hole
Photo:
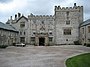
[[[90,44],[90,19],[80,25],[80,42],[82,45]]]

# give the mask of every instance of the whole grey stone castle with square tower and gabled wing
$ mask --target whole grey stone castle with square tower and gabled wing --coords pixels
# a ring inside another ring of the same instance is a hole
[[[28,17],[20,13],[6,24],[15,27],[18,35],[14,43],[30,45],[74,44],[80,37],[79,26],[83,22],[83,6],[55,6],[54,15],[34,15]],[[12,42],[12,43],[13,43]]]

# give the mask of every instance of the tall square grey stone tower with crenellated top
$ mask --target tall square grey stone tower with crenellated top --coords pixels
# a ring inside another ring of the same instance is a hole
[[[56,44],[73,44],[79,40],[79,25],[83,22],[83,6],[55,6]]]

